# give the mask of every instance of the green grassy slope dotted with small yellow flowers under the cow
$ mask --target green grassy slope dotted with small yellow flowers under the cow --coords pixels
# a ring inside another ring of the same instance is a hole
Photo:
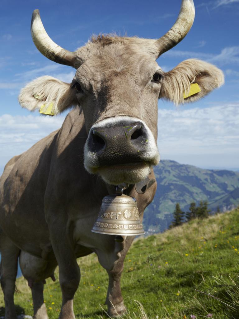
[[[130,248],[122,275],[126,319],[239,319],[239,210],[193,220],[163,234],[137,239]],[[96,255],[78,259],[81,282],[75,295],[76,318],[106,318],[108,278]],[[56,282],[44,289],[49,318],[61,307]],[[33,313],[30,289],[17,279],[18,312]],[[4,307],[2,293],[0,307]],[[136,300],[136,302],[135,302]],[[0,309],[0,316],[4,315]],[[145,311],[145,313],[143,313]]]

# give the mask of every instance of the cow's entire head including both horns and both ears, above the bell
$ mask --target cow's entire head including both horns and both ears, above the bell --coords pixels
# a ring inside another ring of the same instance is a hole
[[[30,110],[53,104],[54,114],[81,106],[88,132],[86,170],[110,184],[145,179],[159,162],[158,99],[191,102],[223,83],[221,70],[203,61],[186,60],[166,73],[156,63],[185,37],[194,14],[193,1],[183,0],[176,23],[160,39],[102,35],[70,52],[49,38],[35,10],[31,32],[36,47],[50,60],[74,67],[76,74],[70,84],[47,76],[34,80],[21,91],[19,103]],[[191,83],[201,91],[184,99]]]

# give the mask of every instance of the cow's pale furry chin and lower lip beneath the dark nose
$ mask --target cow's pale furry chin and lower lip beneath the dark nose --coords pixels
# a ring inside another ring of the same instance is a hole
[[[97,168],[97,173],[108,184],[135,184],[144,180],[148,176],[151,167],[152,164],[150,162],[139,161],[134,163],[101,166]]]

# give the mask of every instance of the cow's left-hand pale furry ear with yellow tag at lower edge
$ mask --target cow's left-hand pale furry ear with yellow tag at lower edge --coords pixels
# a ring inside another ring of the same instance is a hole
[[[44,76],[28,83],[18,96],[19,104],[30,111],[56,115],[77,104],[75,90],[69,83]]]

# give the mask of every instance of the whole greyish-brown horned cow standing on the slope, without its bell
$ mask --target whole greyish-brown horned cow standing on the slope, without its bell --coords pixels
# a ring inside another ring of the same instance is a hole
[[[126,311],[120,277],[134,236],[96,234],[102,198],[128,185],[140,219],[153,200],[152,167],[159,163],[158,99],[183,104],[199,100],[223,84],[212,64],[189,59],[163,72],[156,59],[179,43],[195,15],[183,0],[172,28],[159,39],[99,35],[70,52],[47,35],[38,10],[31,33],[48,59],[76,69],[71,83],[37,78],[20,92],[30,111],[57,115],[72,108],[62,127],[28,151],[13,157],[0,181],[1,286],[5,318],[15,319],[13,294],[18,257],[32,289],[35,319],[46,319],[44,279],[59,265],[62,306],[59,318],[73,319],[73,298],[80,281],[76,259],[92,252],[109,275],[106,305],[110,316]],[[199,90],[190,93],[195,84]],[[147,182],[148,181],[148,182]],[[139,185],[142,186],[142,188]],[[151,186],[151,187],[149,187]]]

